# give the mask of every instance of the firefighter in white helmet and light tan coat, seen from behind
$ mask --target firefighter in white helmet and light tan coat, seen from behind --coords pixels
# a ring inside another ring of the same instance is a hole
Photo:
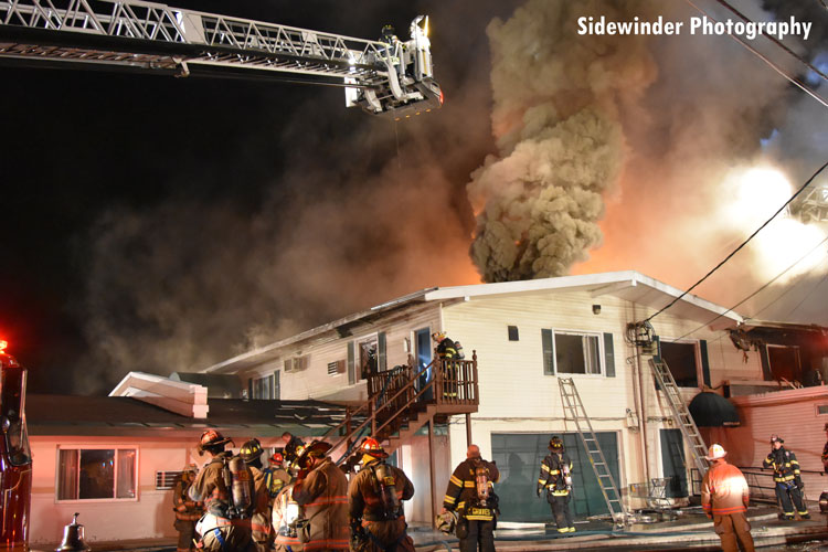
[[[753,552],[751,523],[745,516],[751,498],[747,481],[737,467],[728,464],[726,454],[715,444],[705,456],[713,465],[701,482],[701,507],[713,520],[723,552],[736,552],[740,543],[744,552]]]

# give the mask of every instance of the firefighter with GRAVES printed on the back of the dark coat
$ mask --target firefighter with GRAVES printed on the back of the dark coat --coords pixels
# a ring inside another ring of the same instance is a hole
[[[480,448],[469,445],[466,459],[452,474],[443,499],[443,512],[457,511],[460,552],[493,552],[498,498],[493,484],[500,471],[493,461],[480,457]]]

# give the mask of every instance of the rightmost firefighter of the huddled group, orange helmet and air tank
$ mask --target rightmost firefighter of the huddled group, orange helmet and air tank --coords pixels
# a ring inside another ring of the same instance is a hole
[[[385,464],[389,455],[376,439],[365,439],[360,452],[362,469],[348,487],[351,550],[414,552],[402,503],[414,496],[414,485],[402,469]]]

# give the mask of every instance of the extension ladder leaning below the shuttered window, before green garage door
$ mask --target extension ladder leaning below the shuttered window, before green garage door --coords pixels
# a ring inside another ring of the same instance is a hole
[[[590,416],[586,415],[584,403],[577,393],[575,382],[572,378],[559,378],[558,384],[561,386],[564,415],[575,422],[575,429],[577,429],[581,442],[584,444],[584,449],[586,450],[587,458],[590,458],[590,465],[592,465],[595,477],[598,479],[601,493],[604,495],[606,506],[609,508],[609,514],[616,523],[624,523],[627,512],[620,500],[618,487],[615,485],[615,478],[613,478],[613,474],[609,471],[609,466],[606,463],[604,453],[601,450],[598,439],[592,429]],[[584,429],[582,429],[582,424]]]

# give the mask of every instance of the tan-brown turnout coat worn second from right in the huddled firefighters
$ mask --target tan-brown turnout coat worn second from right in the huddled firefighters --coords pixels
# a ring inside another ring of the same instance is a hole
[[[294,484],[294,500],[309,524],[302,550],[348,550],[348,479],[330,458]]]

